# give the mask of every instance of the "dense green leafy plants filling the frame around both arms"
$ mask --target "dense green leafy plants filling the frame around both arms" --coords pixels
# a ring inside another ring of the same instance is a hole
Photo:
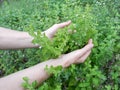
[[[45,36],[40,38],[32,34],[34,43],[41,44],[42,49],[0,51],[0,76],[81,48],[92,38],[95,46],[84,64],[68,69],[51,68],[48,72],[54,75],[37,89],[119,90],[119,3],[120,0],[6,0],[0,6],[1,27],[39,33],[55,23],[66,20],[73,23],[58,32],[52,43]],[[76,33],[68,34],[66,29],[69,28]],[[25,81],[26,88],[35,89],[34,84]]]

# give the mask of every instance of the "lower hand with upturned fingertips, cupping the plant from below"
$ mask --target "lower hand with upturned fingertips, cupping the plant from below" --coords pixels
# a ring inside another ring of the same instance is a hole
[[[71,64],[83,63],[91,53],[93,48],[92,39],[88,41],[88,44],[82,49],[75,50],[66,55],[62,55],[59,60],[63,62],[63,67],[68,67]]]

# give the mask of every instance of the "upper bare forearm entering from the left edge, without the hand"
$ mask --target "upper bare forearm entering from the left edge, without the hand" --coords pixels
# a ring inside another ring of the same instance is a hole
[[[27,32],[20,32],[0,27],[0,49],[34,48],[33,37]]]

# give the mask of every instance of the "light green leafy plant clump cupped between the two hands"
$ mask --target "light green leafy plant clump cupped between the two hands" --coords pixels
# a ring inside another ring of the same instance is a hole
[[[45,60],[56,58],[61,54],[80,49],[90,38],[94,40],[97,38],[97,23],[90,11],[90,7],[86,6],[83,11],[80,8],[74,8],[74,10],[77,12],[77,18],[74,19],[70,26],[59,30],[52,40],[48,39],[40,30],[37,30],[37,32],[30,30],[30,34],[34,37],[33,43],[40,45],[38,55],[41,58],[43,57],[42,60],[44,58],[46,58]]]

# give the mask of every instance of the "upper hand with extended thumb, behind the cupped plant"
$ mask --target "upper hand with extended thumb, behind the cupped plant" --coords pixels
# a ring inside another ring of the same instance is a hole
[[[51,38],[53,38],[53,36],[55,35],[55,33],[57,32],[58,29],[64,28],[64,27],[70,25],[70,23],[71,23],[71,21],[67,21],[67,22],[63,22],[63,23],[59,23],[59,24],[54,24],[48,30],[44,31],[44,33],[48,38],[51,39]]]

